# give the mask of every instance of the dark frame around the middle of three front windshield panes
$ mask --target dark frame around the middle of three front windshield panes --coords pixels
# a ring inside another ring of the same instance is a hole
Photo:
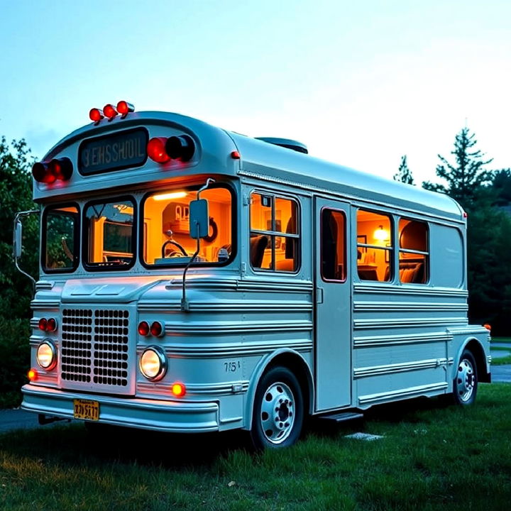
[[[104,263],[89,263],[89,229],[85,229],[87,225],[87,209],[94,204],[109,204],[111,202],[123,202],[130,201],[133,203],[133,224],[132,231],[133,236],[131,237],[131,252],[133,253],[133,258],[130,263],[127,265],[106,265],[103,266]],[[82,265],[88,272],[104,272],[104,271],[126,271],[131,270],[133,266],[136,264],[137,260],[137,243],[138,243],[138,204],[136,202],[136,198],[133,195],[121,195],[119,197],[104,197],[103,199],[94,199],[89,202],[86,202],[83,206],[82,210]]]

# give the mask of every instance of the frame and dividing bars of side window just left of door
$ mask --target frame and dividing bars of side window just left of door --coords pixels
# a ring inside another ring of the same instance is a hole
[[[295,202],[296,204],[296,211],[297,211],[297,233],[291,234],[291,233],[285,233],[280,231],[265,231],[261,229],[252,229],[251,222],[252,222],[252,196],[253,194],[259,194],[261,196],[263,195],[270,195],[272,197],[272,227],[275,228],[275,199],[285,199],[292,202]],[[273,238],[293,238],[297,239],[297,267],[293,271],[286,271],[286,270],[278,270],[275,268],[275,243],[272,242],[271,245],[271,251],[272,251],[272,263],[274,268],[257,268],[252,265],[252,262],[250,260],[250,256],[248,257],[248,263],[252,270],[254,272],[262,272],[262,273],[279,273],[282,275],[297,275],[300,273],[300,270],[302,268],[302,204],[300,203],[300,199],[298,197],[293,195],[286,195],[282,194],[280,192],[275,192],[273,190],[263,190],[263,189],[257,189],[254,188],[251,190],[249,194],[249,208],[248,208],[248,247],[250,251],[250,240],[251,240],[251,234],[255,233],[258,236],[266,235],[270,236],[270,240]]]

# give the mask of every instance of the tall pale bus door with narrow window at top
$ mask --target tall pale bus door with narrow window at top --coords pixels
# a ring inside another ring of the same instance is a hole
[[[351,404],[349,205],[315,198],[316,411]]]

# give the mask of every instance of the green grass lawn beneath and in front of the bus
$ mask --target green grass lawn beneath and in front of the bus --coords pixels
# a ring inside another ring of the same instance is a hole
[[[480,385],[476,405],[415,400],[363,423],[251,454],[238,434],[122,432],[77,425],[0,436],[5,510],[508,510],[511,385]],[[356,428],[356,429],[355,429]],[[381,434],[366,442],[356,430]]]

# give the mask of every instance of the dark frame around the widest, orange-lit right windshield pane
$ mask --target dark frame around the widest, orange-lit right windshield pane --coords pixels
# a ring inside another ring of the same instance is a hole
[[[177,187],[180,189],[187,189],[191,191],[198,191],[199,188],[201,188],[204,185],[204,182],[200,183],[193,183],[191,185],[172,185],[172,187]],[[170,190],[172,187],[165,187],[165,190]],[[233,184],[229,181],[216,181],[214,183],[211,183],[207,189],[214,189],[214,188],[225,188],[230,194],[231,194],[231,254],[229,255],[229,259],[223,262],[214,262],[214,261],[205,261],[205,262],[197,262],[195,261],[192,263],[193,268],[197,267],[211,267],[214,268],[222,268],[224,266],[230,265],[233,260],[236,259],[236,254],[238,251],[238,215],[236,214],[236,204],[237,204],[237,194],[236,194],[236,188],[233,186]],[[169,263],[169,264],[149,264],[145,262],[144,258],[144,243],[145,243],[145,226],[144,226],[144,206],[145,201],[151,197],[154,194],[157,194],[158,192],[162,192],[163,189],[153,189],[150,192],[147,192],[143,195],[140,202],[140,210],[141,214],[139,215],[140,218],[138,219],[138,231],[141,233],[141,243],[138,243],[138,258],[140,260],[141,265],[146,268],[147,270],[160,270],[165,269],[168,270],[169,268],[185,268],[187,263]],[[202,193],[204,193],[206,190],[203,190]],[[203,197],[204,198],[204,197]]]

